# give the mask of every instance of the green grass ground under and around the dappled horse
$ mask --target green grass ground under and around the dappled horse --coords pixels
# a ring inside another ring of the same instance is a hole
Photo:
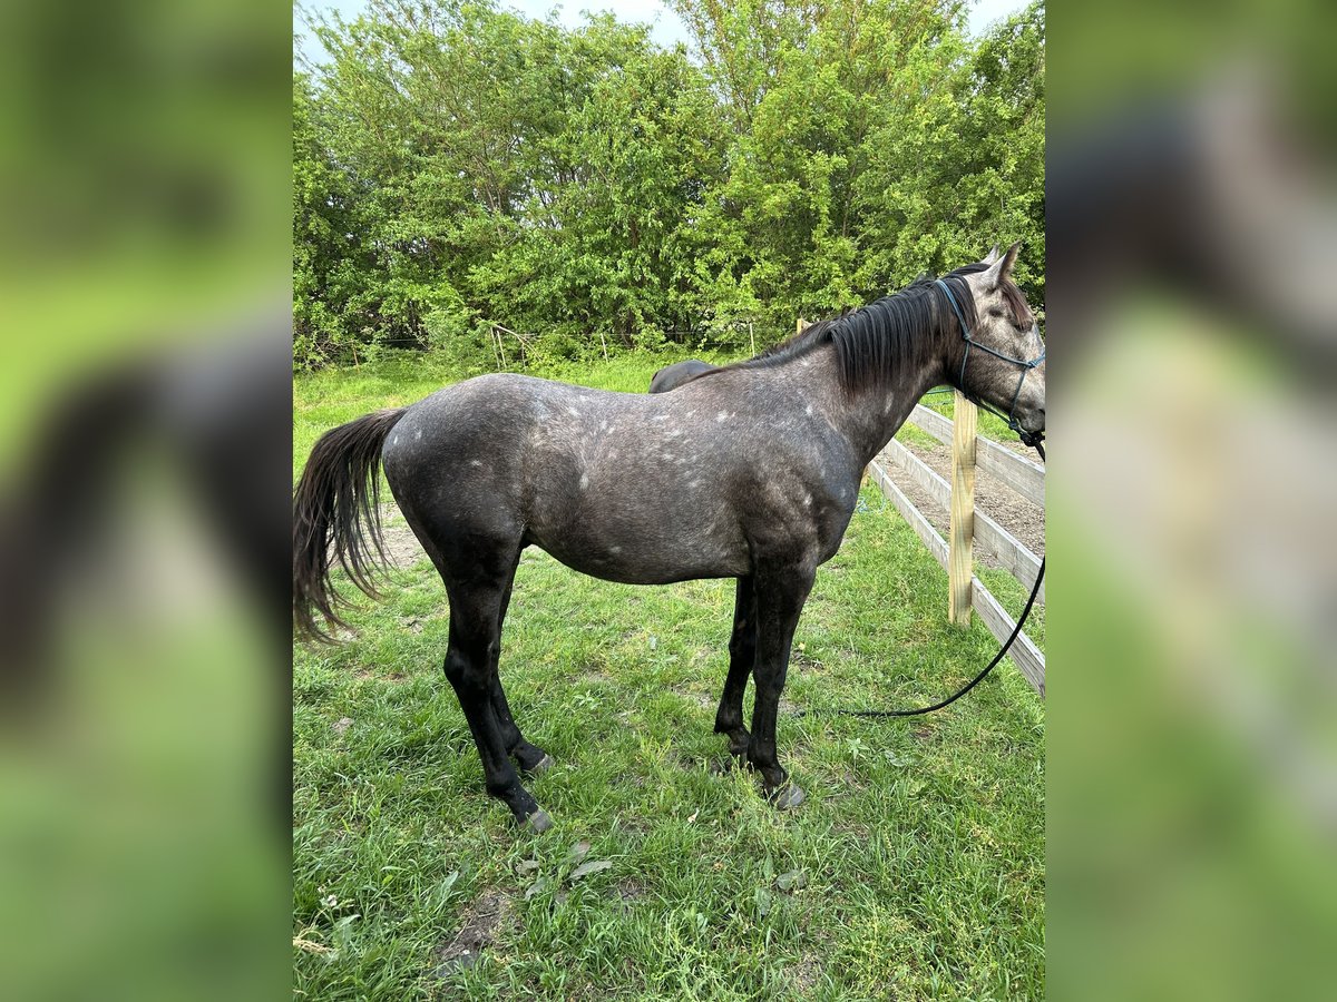
[[[640,389],[662,363],[559,375]],[[298,378],[294,468],[325,428],[451,377],[401,359]],[[947,625],[945,574],[909,526],[865,489],[818,574],[778,735],[809,794],[794,812],[707,770],[731,601],[730,581],[634,588],[525,553],[501,657],[558,760],[529,782],[556,822],[536,838],[481,788],[429,564],[360,601],[344,644],[294,648],[297,993],[1042,997],[1044,711],[1011,664],[928,717],[787,712],[929,701],[992,656],[981,625]],[[465,927],[489,945],[445,969]]]

